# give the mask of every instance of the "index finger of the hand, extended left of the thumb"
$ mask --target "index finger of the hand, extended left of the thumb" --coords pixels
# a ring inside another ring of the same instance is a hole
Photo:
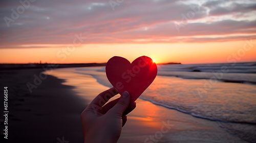
[[[108,102],[112,97],[118,94],[117,90],[113,87],[105,90],[98,94],[98,96],[90,103],[90,105],[98,105],[102,107],[106,102]]]

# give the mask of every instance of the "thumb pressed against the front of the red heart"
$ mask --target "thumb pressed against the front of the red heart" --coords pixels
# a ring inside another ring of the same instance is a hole
[[[122,116],[123,112],[129,106],[130,100],[131,98],[129,92],[124,91],[117,104],[111,108],[109,112]]]

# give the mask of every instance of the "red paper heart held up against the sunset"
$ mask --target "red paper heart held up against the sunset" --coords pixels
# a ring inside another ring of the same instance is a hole
[[[141,56],[132,63],[122,57],[112,57],[106,63],[106,77],[116,90],[122,94],[128,91],[135,101],[154,81],[157,65],[150,58]]]

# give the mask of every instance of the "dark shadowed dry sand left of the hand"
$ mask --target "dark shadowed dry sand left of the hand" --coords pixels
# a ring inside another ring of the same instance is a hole
[[[33,84],[40,69],[0,71],[1,89],[8,86],[7,142],[58,142],[59,138],[82,142],[80,113],[87,102],[75,96],[74,87],[62,85],[64,80],[47,76],[30,93],[27,83]],[[1,105],[3,103],[1,98]],[[3,108],[1,107],[1,114]],[[3,116],[1,115],[1,119]],[[3,122],[2,122],[3,123]],[[1,123],[1,140],[3,124]]]

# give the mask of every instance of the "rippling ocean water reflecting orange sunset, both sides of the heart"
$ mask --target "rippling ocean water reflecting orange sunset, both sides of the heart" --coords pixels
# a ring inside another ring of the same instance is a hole
[[[103,66],[55,72],[80,75],[66,79],[91,76],[113,87]],[[228,133],[256,142],[256,62],[158,65],[155,81],[140,99],[214,121]]]

